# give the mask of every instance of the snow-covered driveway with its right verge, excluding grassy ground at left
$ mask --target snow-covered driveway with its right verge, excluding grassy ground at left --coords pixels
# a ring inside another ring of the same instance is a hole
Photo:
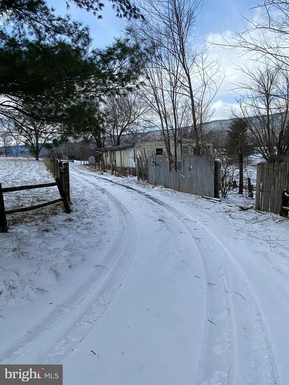
[[[63,363],[65,385],[287,384],[288,223],[71,166],[107,245],[0,361]]]

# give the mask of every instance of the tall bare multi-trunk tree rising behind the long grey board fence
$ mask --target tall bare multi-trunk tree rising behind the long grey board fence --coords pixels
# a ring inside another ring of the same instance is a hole
[[[176,123],[184,121],[180,117],[184,117],[186,110],[196,152],[201,154],[205,116],[223,78],[218,62],[209,59],[208,48],[199,51],[197,27],[202,1],[148,0],[140,7],[146,23],[133,23],[129,33],[151,53],[146,71],[151,86],[151,106],[159,116],[158,124],[168,137],[170,130],[176,132]],[[172,116],[171,127],[169,116]],[[170,149],[167,151],[170,154]]]

